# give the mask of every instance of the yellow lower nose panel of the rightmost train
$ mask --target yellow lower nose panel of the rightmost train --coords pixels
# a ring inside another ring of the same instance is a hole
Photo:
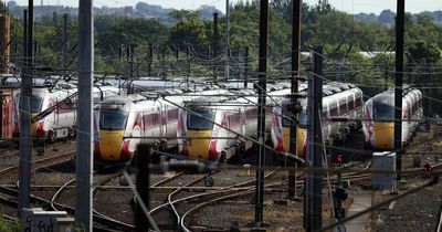
[[[375,123],[373,124],[373,139],[375,148],[377,149],[393,149],[394,137],[393,123]]]

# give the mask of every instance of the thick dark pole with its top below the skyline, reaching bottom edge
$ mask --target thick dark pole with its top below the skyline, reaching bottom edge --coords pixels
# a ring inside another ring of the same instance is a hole
[[[314,49],[314,75],[308,81],[308,102],[307,102],[307,166],[312,169],[323,167],[323,136],[320,130],[319,114],[323,105],[323,48]],[[304,201],[304,225],[305,231],[317,231],[323,226],[323,175],[316,170],[307,171],[305,201]]]

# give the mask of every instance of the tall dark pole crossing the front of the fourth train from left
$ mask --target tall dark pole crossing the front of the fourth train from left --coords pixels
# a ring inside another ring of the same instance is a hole
[[[292,0],[293,2],[293,22],[292,22],[292,115],[297,118],[297,112],[294,107],[297,104],[297,98],[294,97],[294,94],[298,92],[298,81],[299,76],[299,53],[301,53],[301,0]],[[297,155],[297,145],[296,145],[296,124],[291,125],[291,143],[290,143],[290,152]],[[288,192],[287,198],[293,199],[296,197],[296,167],[295,170],[288,170]]]

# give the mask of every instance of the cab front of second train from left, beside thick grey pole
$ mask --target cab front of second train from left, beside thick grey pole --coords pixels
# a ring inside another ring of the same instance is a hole
[[[129,120],[130,103],[112,98],[94,110],[94,156],[109,162],[126,162],[134,156],[130,139],[125,139]]]

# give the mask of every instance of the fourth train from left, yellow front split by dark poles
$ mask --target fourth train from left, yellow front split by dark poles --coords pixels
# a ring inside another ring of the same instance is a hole
[[[304,85],[305,86],[305,85]],[[306,88],[301,94],[306,94]],[[284,116],[292,115],[291,99],[283,99],[281,105],[274,107],[271,144],[277,154],[290,152],[291,126],[294,122]],[[296,128],[296,149],[294,155],[304,156],[306,154],[307,139],[307,99],[301,98]],[[348,83],[330,82],[323,86],[323,110],[320,115],[323,140],[326,145],[339,145],[346,139],[346,136],[354,129],[360,129],[361,124],[357,118],[364,115],[364,96],[362,91],[357,86]],[[333,120],[333,118],[340,118]],[[347,118],[346,120],[343,120]],[[351,120],[354,119],[354,120]],[[281,155],[276,159],[283,160]]]

